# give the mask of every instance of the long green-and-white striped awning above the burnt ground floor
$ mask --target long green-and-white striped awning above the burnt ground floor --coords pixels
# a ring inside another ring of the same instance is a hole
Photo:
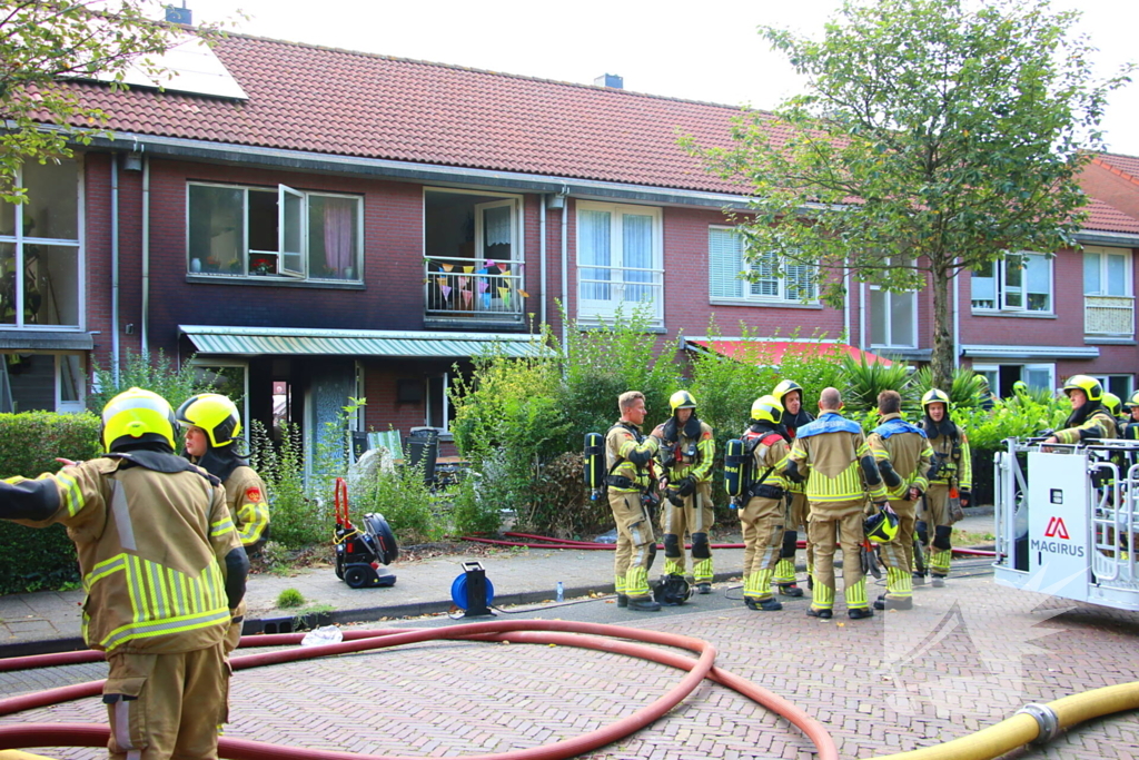
[[[232,357],[322,356],[454,359],[474,357],[491,346],[508,357],[539,356],[536,335],[350,330],[294,327],[179,325],[202,354]]]

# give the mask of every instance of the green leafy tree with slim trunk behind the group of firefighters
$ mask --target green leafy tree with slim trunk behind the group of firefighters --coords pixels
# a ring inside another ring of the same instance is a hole
[[[749,261],[819,264],[835,305],[847,267],[886,291],[931,287],[945,387],[951,279],[1076,245],[1076,178],[1101,148],[1107,93],[1131,71],[1093,80],[1077,17],[1047,0],[846,0],[821,42],[760,27],[806,92],[738,117],[730,148],[686,142],[754,193],[737,219]]]

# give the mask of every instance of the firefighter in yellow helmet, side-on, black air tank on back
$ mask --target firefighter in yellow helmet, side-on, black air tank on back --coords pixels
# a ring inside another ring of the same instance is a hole
[[[771,593],[771,577],[782,548],[787,441],[779,433],[784,408],[773,395],[752,403],[752,418],[740,436],[747,459],[747,483],[739,522],[744,529],[744,604],[776,612],[782,604]]]

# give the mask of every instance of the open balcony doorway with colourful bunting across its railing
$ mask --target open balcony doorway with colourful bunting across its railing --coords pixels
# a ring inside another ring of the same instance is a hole
[[[428,319],[522,324],[522,198],[424,191],[424,272]]]

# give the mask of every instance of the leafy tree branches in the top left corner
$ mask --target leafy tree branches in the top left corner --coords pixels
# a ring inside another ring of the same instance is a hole
[[[0,201],[23,201],[16,185],[23,162],[69,157],[72,144],[98,134],[105,114],[83,105],[65,80],[98,76],[123,88],[132,65],[161,77],[151,56],[188,34],[216,33],[149,17],[161,11],[157,0],[0,0],[0,119],[8,122],[0,131]]]

